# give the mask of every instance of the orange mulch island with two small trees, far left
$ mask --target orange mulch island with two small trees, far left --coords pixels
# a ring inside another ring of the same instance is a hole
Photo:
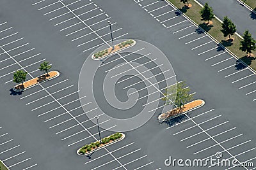
[[[49,78],[52,78],[54,76],[57,76],[57,74],[58,74],[57,71],[50,71],[49,75],[47,75],[47,73],[45,73],[45,74],[43,74],[41,76],[38,76],[36,78],[33,78],[31,80],[25,81],[23,83],[23,86],[22,86],[22,83],[21,83],[19,85],[16,85],[15,89],[17,89],[17,90],[26,89],[28,87],[31,87],[31,86],[37,84],[37,83],[40,83],[40,82],[45,81],[45,80],[48,80]]]

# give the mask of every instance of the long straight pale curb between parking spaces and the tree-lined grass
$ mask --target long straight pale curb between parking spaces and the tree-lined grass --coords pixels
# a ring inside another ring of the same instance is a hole
[[[170,4],[173,8],[175,8],[177,11],[179,11],[180,13],[182,13],[182,11],[180,11],[176,6],[174,6],[172,3],[170,3],[168,0],[164,0],[166,1],[168,4]],[[195,0],[194,0],[195,1]],[[234,57],[236,60],[239,60],[239,62],[241,62],[245,67],[248,67],[250,69],[250,71],[252,71],[252,73],[256,74],[256,71],[248,66],[245,62],[243,62],[243,60],[239,59],[239,57],[237,57],[233,52],[231,52],[230,50],[228,50],[228,48],[225,48],[225,46],[221,45],[221,43],[215,39],[214,37],[212,37],[208,32],[204,31],[204,29],[202,29],[202,27],[200,27],[198,24],[196,24],[193,20],[191,20],[186,14],[182,13],[182,15],[187,18],[192,24],[194,24],[196,27],[198,27],[201,31],[203,31],[205,34],[207,34],[209,36],[209,38],[211,38],[213,41],[215,41],[215,43],[217,43],[218,45],[221,46],[221,48],[227,50],[228,53],[230,53],[230,55],[232,55],[232,57]]]

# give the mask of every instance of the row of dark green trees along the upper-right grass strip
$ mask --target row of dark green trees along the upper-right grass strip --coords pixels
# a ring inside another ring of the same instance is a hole
[[[180,2],[186,4],[189,0],[180,0]],[[204,8],[200,10],[200,14],[202,20],[208,21],[208,23],[214,18],[213,10],[208,3],[204,4]],[[223,18],[222,29],[220,31],[223,33],[224,37],[228,36],[230,39],[230,36],[234,35],[236,32],[236,25],[226,16]],[[239,50],[246,52],[246,54],[249,53],[249,57],[251,53],[256,50],[256,40],[252,38],[252,34],[248,30],[244,31],[240,45]]]

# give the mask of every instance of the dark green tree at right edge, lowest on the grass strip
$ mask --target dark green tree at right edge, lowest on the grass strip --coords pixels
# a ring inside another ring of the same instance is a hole
[[[252,34],[246,30],[243,35],[243,39],[240,41],[240,48],[242,52],[249,53],[249,56],[251,57],[252,51],[256,50],[256,41],[252,38]]]

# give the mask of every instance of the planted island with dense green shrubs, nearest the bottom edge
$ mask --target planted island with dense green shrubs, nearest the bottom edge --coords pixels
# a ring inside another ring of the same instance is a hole
[[[111,145],[117,141],[120,141],[120,140],[124,139],[124,137],[125,137],[125,134],[116,132],[115,134],[112,134],[111,136],[101,139],[101,143],[100,143],[100,141],[96,141],[89,145],[84,145],[82,148],[79,148],[79,150],[77,150],[77,154],[78,155],[87,155],[89,153],[92,153],[96,149],[99,150],[100,148],[103,148],[104,146]]]

